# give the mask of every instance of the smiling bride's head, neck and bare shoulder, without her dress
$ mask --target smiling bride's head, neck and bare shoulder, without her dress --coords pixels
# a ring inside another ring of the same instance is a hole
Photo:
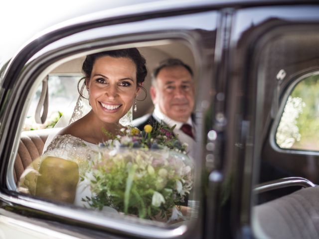
[[[123,128],[119,120],[131,109],[147,75],[145,59],[136,48],[96,53],[86,57],[82,71],[92,110],[64,128],[90,143],[107,141]]]

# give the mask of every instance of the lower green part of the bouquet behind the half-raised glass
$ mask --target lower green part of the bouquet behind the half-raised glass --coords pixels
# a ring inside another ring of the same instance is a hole
[[[91,170],[94,196],[82,200],[100,210],[109,206],[140,218],[168,219],[192,188],[191,167],[184,157],[167,150],[127,147],[114,153],[104,148]]]

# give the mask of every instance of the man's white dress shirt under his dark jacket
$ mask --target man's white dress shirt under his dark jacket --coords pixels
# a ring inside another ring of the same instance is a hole
[[[161,121],[164,122],[169,127],[176,125],[175,128],[173,129],[173,133],[176,135],[179,142],[187,144],[188,156],[191,156],[192,158],[194,158],[193,147],[195,145],[195,140],[180,129],[180,127],[184,124],[184,122],[178,122],[173,119],[170,119],[169,117],[167,117],[160,111],[160,107],[158,105],[155,105],[153,117],[159,122]],[[188,123],[189,125],[192,126],[193,135],[195,135],[195,124],[193,123],[193,120],[191,119],[191,117],[189,117],[185,123]]]

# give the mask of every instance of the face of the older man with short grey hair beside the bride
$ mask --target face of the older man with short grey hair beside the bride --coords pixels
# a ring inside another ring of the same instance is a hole
[[[162,68],[156,85],[151,87],[151,97],[164,115],[175,121],[186,122],[194,108],[191,74],[183,66]]]

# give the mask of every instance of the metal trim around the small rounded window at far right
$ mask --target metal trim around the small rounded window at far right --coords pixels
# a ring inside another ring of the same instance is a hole
[[[284,112],[284,108],[286,106],[288,97],[291,95],[291,93],[293,92],[294,88],[304,79],[310,77],[310,76],[314,76],[314,75],[319,75],[319,69],[311,69],[308,71],[305,71],[303,73],[300,73],[299,76],[295,76],[293,78],[296,78],[296,80],[290,79],[290,81],[293,81],[289,87],[287,88],[287,90],[285,91],[283,97],[282,97],[282,101],[280,103],[280,107],[279,110],[276,114],[276,118],[272,124],[271,127],[271,131],[270,131],[270,137],[269,137],[269,141],[270,141],[270,145],[271,147],[280,153],[291,153],[291,154],[300,154],[300,155],[319,155],[319,151],[312,151],[312,150],[302,150],[302,149],[288,149],[288,148],[281,148],[279,147],[279,145],[276,143],[276,131],[278,128],[278,125],[280,123],[280,119],[283,115]]]

